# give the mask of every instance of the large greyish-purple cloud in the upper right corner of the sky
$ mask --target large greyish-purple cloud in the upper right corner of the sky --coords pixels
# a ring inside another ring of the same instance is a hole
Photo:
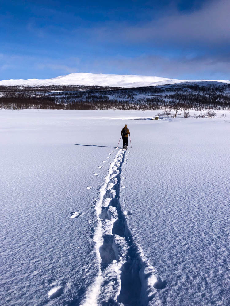
[[[170,13],[169,13],[170,12]],[[194,46],[225,43],[230,41],[230,2],[219,0],[208,2],[201,9],[182,13],[170,10],[158,19],[127,25],[112,26],[103,24],[91,29],[94,39],[109,41],[119,40],[125,43],[147,43],[152,46],[173,45]]]

